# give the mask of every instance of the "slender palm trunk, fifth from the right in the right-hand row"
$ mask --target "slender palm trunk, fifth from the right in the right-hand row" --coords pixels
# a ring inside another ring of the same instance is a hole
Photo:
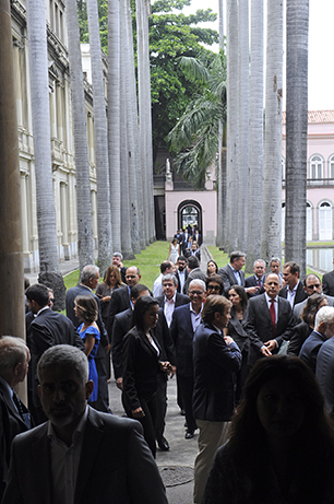
[[[239,34],[238,1],[227,1],[227,243],[226,251],[238,246],[239,168]]]

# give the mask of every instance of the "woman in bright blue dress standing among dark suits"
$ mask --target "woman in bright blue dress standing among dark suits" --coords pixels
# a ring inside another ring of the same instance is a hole
[[[99,330],[96,325],[98,308],[92,295],[80,295],[74,300],[74,313],[82,320],[77,331],[85,344],[85,354],[90,363],[90,379],[94,382],[94,389],[90,402],[97,400],[98,377],[95,364],[95,355],[99,344]]]

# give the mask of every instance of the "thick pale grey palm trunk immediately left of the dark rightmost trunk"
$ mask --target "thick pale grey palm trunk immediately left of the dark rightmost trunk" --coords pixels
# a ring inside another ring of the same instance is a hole
[[[267,1],[261,257],[281,257],[283,1]]]

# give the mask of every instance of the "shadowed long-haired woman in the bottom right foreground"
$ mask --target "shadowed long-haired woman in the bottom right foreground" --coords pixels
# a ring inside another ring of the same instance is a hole
[[[334,502],[334,431],[314,374],[288,355],[254,365],[204,504]]]

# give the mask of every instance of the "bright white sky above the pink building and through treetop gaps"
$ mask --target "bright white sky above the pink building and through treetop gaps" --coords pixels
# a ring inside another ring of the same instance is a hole
[[[334,110],[334,1],[309,0],[309,110]],[[225,5],[226,0],[224,9]],[[183,13],[194,13],[198,9],[218,13],[218,0],[192,0]],[[218,22],[205,25],[218,31]]]

